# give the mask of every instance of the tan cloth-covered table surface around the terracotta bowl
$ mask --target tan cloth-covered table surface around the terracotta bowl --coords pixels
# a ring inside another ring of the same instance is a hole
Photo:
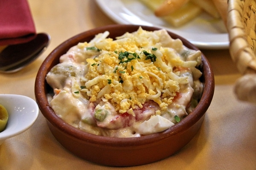
[[[61,42],[92,28],[114,24],[94,0],[29,0],[37,32],[51,35],[47,50],[14,74],[0,74],[0,94],[35,99],[35,76],[47,55]],[[256,106],[241,102],[233,86],[241,76],[228,50],[202,50],[215,74],[215,94],[197,135],[178,153],[151,164],[114,169],[255,170]],[[74,156],[52,136],[41,113],[26,132],[0,145],[0,170],[111,170]]]

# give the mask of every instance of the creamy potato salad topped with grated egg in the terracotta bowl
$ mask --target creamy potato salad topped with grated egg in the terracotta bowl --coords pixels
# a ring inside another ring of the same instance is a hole
[[[79,42],[47,74],[49,104],[61,119],[95,135],[138,137],[192,112],[203,91],[200,51],[165,29],[108,35]]]

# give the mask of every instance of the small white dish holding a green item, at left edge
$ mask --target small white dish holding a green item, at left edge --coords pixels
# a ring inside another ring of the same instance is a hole
[[[0,104],[9,114],[6,128],[0,132],[1,145],[6,139],[29,129],[38,118],[39,108],[35,100],[16,94],[0,94]]]

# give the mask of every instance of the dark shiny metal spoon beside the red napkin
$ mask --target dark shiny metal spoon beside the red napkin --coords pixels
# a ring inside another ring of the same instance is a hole
[[[0,73],[20,71],[46,50],[50,39],[49,34],[39,33],[29,42],[8,45],[0,50]]]

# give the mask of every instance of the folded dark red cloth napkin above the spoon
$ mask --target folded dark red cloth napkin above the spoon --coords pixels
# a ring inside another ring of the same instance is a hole
[[[0,0],[0,45],[19,44],[36,35],[26,0]]]

